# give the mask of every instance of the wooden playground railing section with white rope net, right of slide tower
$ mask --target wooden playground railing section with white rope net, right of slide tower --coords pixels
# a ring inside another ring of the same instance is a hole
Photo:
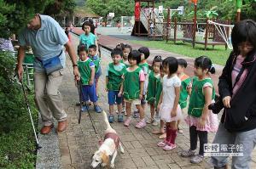
[[[217,26],[222,25],[222,26]],[[230,20],[209,20],[201,19],[197,20],[196,26],[194,22],[184,21],[166,23],[166,42],[177,41],[189,42],[195,48],[195,44],[202,44],[204,48],[212,45],[212,48],[217,45],[222,45],[226,49],[230,46]]]

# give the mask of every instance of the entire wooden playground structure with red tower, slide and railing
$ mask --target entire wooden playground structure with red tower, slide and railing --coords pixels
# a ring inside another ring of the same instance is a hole
[[[132,36],[144,36],[149,40],[166,40],[189,42],[195,48],[195,44],[202,44],[204,48],[211,45],[222,45],[225,48],[232,48],[230,44],[230,33],[234,25],[230,20],[216,20],[196,17],[196,0],[194,18],[177,22],[172,18],[172,11],[180,11],[180,8],[167,10],[167,17],[164,20],[154,8],[155,0],[135,0],[135,24],[131,32]],[[147,5],[142,7],[142,3]],[[165,9],[164,9],[165,11]]]

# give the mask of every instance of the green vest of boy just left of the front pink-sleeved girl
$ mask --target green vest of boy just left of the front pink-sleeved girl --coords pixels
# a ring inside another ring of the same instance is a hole
[[[123,75],[125,74],[126,67],[120,71],[113,68],[113,63],[108,65],[108,90],[119,91],[123,82]]]

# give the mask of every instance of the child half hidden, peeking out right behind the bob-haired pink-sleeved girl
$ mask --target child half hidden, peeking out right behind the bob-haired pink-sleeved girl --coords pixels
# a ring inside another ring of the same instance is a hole
[[[149,57],[149,49],[147,47],[142,47],[139,48],[138,51],[142,54],[141,55],[141,62],[139,64],[140,68],[142,68],[144,75],[145,75],[145,82],[144,82],[144,87],[143,87],[143,99],[141,99],[141,104],[143,106],[143,109],[145,109],[145,104],[146,104],[146,93],[147,93],[147,88],[148,88],[148,62],[147,59]],[[139,117],[138,111],[134,111],[134,118]]]

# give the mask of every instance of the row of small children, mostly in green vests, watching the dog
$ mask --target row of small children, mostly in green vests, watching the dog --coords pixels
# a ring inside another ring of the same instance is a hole
[[[93,102],[96,112],[101,112],[97,104],[96,82],[98,79],[99,57],[96,57],[96,48],[87,49],[79,46],[79,71],[83,84],[84,102]],[[117,121],[124,122],[125,127],[131,123],[131,104],[135,104],[139,117],[136,127],[143,128],[146,123],[157,126],[160,130],[155,134],[162,134],[165,138],[157,145],[165,150],[176,148],[175,139],[177,132],[182,132],[178,127],[183,121],[183,115],[189,125],[190,149],[183,151],[181,156],[190,157],[192,163],[203,160],[203,145],[207,144],[207,132],[216,132],[218,117],[208,110],[212,104],[215,91],[210,77],[214,73],[212,61],[207,56],[195,59],[195,77],[190,78],[184,73],[187,62],[184,59],[160,55],[154,57],[152,70],[148,69],[148,48],[132,50],[130,45],[118,44],[111,52],[113,62],[106,71],[106,91],[108,92],[109,116],[108,121],[113,122],[113,105],[117,104]],[[189,97],[189,109],[187,110]],[[150,106],[150,119],[145,121],[145,104]],[[187,111],[187,112],[185,112]],[[123,113],[126,115],[125,121]],[[199,155],[195,155],[197,138],[200,140]]]

